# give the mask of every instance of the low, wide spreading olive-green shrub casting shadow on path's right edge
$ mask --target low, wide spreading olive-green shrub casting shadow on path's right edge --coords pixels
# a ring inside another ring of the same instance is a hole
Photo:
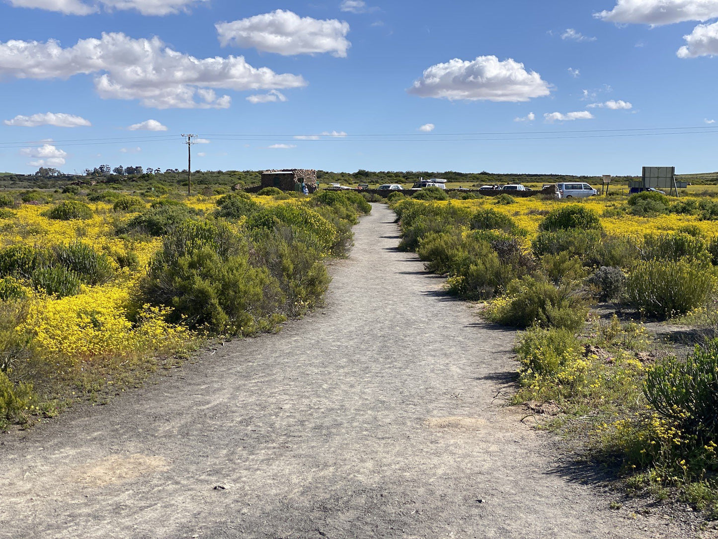
[[[511,283],[507,295],[508,301],[499,303],[488,313],[491,321],[502,326],[541,326],[577,331],[583,327],[588,315],[583,298],[569,284],[555,287],[545,280],[524,277]]]

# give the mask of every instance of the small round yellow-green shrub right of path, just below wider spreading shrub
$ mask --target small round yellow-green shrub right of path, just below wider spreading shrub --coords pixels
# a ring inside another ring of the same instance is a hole
[[[584,347],[573,331],[564,328],[531,328],[521,335],[516,354],[521,363],[519,382],[531,387],[535,397],[554,384],[580,384],[586,368]]]

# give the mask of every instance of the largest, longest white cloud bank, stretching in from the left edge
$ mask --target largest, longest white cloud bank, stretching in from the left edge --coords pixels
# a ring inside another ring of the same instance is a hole
[[[196,58],[170,49],[158,37],[135,40],[122,33],[79,40],[73,47],[60,42],[0,42],[0,78],[66,79],[95,75],[103,99],[139,99],[156,109],[226,109],[234,91],[299,88],[300,75],[253,68],[243,56]]]

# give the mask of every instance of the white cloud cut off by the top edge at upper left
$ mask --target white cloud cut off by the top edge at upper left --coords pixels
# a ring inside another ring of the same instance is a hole
[[[139,11],[143,15],[169,15],[189,11],[191,6],[209,0],[8,0],[14,7],[57,11],[65,15],[89,15],[100,11]]]

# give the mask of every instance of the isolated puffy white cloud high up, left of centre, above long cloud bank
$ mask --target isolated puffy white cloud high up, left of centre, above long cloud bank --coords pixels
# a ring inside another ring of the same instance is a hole
[[[343,58],[351,47],[346,39],[348,22],[299,17],[282,9],[239,21],[218,22],[215,27],[223,47],[255,47],[284,56],[330,52]]]

